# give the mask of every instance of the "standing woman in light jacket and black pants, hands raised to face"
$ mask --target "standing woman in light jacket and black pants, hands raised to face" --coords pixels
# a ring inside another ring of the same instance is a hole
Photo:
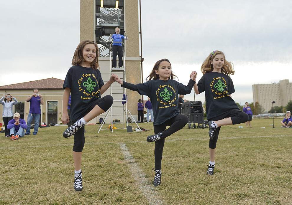
[[[12,102],[14,100],[14,102]],[[0,99],[0,103],[3,105],[2,119],[5,127],[5,137],[9,137],[9,129],[7,125],[9,120],[13,119],[13,105],[17,105],[18,101],[12,95],[5,95]]]

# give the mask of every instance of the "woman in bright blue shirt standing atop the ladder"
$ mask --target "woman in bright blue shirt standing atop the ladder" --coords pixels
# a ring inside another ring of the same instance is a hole
[[[119,34],[120,33],[120,29],[117,27],[115,29],[115,34],[111,34],[109,36],[109,40],[114,39],[114,42],[122,42],[122,39],[124,40],[128,40],[128,36],[126,34],[126,32],[124,33],[124,35],[122,34]],[[112,48],[112,51],[113,51],[113,61],[112,61],[112,67],[113,68],[116,68],[117,67],[117,53],[118,53],[118,56],[119,56],[119,68],[122,68],[123,67],[123,46],[122,46],[122,43],[113,43],[113,48]]]

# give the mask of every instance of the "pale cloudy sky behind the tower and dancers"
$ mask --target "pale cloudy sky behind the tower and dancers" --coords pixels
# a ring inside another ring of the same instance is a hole
[[[292,82],[292,1],[142,0],[141,6],[144,76],[168,58],[180,82],[192,70],[198,81],[204,59],[221,50],[234,64],[236,102],[253,101],[252,84]],[[64,79],[79,43],[79,10],[79,0],[1,1],[0,85]],[[196,100],[204,101],[204,93]]]

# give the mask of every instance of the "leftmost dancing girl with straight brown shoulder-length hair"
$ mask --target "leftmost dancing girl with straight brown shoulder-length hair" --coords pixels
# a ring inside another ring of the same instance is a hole
[[[71,93],[70,119],[72,125],[63,132],[63,137],[74,135],[74,189],[76,191],[83,189],[81,158],[85,142],[84,125],[108,110],[113,103],[113,98],[110,95],[103,98],[100,95],[114,82],[116,75],[112,75],[109,81],[104,84],[101,73],[97,69],[99,68],[98,56],[99,49],[94,41],[79,43],[73,56],[73,66],[68,70],[63,85],[63,89],[65,89],[61,118],[63,124],[69,122],[67,103]]]

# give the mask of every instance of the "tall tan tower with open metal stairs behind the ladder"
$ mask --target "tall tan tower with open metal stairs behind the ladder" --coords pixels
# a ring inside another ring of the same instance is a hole
[[[91,40],[99,44],[100,72],[104,83],[109,80],[111,69],[109,59],[109,35],[115,33],[115,28],[121,29],[120,34],[127,32],[128,41],[123,41],[125,51],[125,70],[126,81],[129,83],[141,83],[141,61],[140,56],[140,31],[139,31],[139,6],[138,0],[81,0],[80,1],[80,41]],[[112,41],[112,40],[111,40]],[[112,55],[111,55],[112,56]],[[117,61],[118,62],[118,61]],[[122,77],[122,74],[119,74]],[[104,95],[109,95],[107,90]],[[118,83],[113,83],[113,98],[122,100],[123,91]],[[132,115],[137,118],[137,103],[141,98],[139,93],[127,90],[127,107]],[[113,104],[113,119],[119,119],[122,122],[123,109],[121,102]],[[99,117],[105,116],[106,113]],[[97,118],[99,118],[97,117]],[[98,122],[99,119],[93,119],[91,123]],[[109,117],[106,120],[109,122]]]

